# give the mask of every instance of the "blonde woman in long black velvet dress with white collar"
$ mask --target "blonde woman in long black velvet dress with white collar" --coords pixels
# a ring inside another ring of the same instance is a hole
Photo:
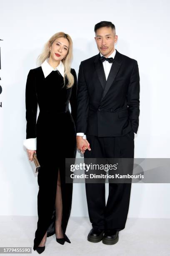
[[[70,217],[72,183],[65,182],[65,158],[76,154],[77,76],[70,68],[72,39],[55,33],[38,57],[41,66],[28,73],[26,101],[26,139],[24,146],[32,161],[37,154],[38,222],[34,250],[42,253],[48,236],[56,234],[60,244],[70,240],[65,235]],[[71,113],[69,110],[69,101]],[[37,104],[40,113],[37,118]]]

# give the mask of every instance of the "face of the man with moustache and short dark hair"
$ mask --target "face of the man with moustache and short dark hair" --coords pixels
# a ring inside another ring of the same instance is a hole
[[[102,27],[96,31],[95,41],[100,53],[106,58],[115,50],[117,35],[112,28]]]

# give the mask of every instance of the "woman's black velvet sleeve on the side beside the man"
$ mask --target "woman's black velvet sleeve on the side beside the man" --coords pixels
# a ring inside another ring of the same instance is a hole
[[[76,124],[76,116],[77,116],[77,75],[75,69],[72,69],[72,74],[74,76],[74,84],[71,89],[70,96],[70,105],[71,105],[71,115]]]

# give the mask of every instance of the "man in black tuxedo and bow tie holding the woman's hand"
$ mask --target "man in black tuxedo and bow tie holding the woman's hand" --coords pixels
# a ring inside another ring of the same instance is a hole
[[[99,54],[81,61],[77,95],[77,148],[87,158],[134,158],[134,133],[139,125],[138,62],[115,49],[111,22],[95,25]],[[114,244],[127,220],[131,183],[86,183],[92,229],[88,241]]]

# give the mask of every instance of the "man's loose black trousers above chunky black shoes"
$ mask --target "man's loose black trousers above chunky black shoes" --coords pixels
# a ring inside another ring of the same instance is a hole
[[[134,158],[134,132],[122,137],[97,137],[86,134],[91,151],[86,150],[88,158]],[[105,203],[105,183],[85,183],[87,206],[93,228],[125,228],[127,220],[131,183],[109,183],[109,195]]]

